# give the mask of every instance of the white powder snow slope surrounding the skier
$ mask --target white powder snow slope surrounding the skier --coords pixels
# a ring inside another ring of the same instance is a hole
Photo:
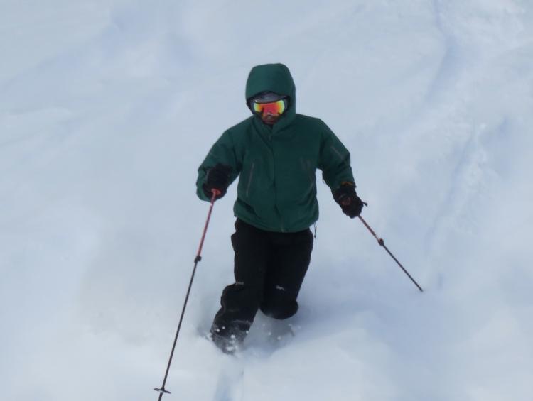
[[[264,62],[351,150],[363,216],[425,292],[319,180],[296,336],[258,317],[228,392],[532,400],[531,0],[1,0],[1,400],[156,400],[208,212],[196,168]],[[199,335],[234,199],[163,400],[217,400],[235,365]]]

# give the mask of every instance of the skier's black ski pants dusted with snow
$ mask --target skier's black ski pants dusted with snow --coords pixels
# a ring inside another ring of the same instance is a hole
[[[211,331],[242,340],[258,309],[274,319],[296,313],[296,298],[311,261],[313,234],[310,229],[296,233],[264,231],[237,219],[231,240],[235,284],[222,292],[222,307]]]

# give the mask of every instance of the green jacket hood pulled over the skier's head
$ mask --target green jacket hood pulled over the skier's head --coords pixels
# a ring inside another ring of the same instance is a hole
[[[260,92],[276,92],[289,97],[289,108],[284,118],[276,123],[285,126],[296,116],[296,87],[291,72],[284,64],[256,65],[252,68],[246,82],[246,102]]]

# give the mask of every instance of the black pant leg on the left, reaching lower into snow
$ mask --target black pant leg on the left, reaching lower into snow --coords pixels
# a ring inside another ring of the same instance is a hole
[[[238,220],[232,235],[235,251],[235,284],[228,285],[220,298],[221,308],[212,324],[212,333],[242,340],[259,309],[264,276],[270,253],[266,231]]]

